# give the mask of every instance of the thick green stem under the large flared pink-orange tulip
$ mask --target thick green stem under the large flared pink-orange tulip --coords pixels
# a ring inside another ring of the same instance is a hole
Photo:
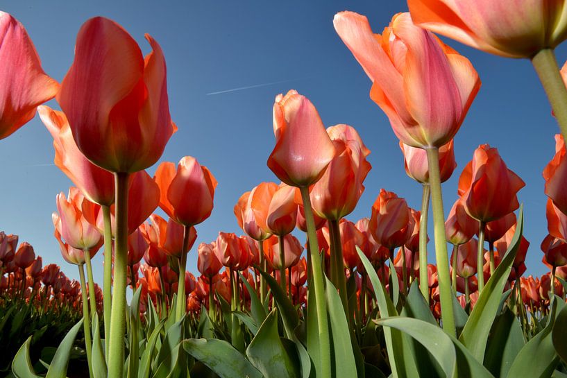
[[[439,297],[443,314],[443,330],[456,336],[455,316],[452,310],[452,293],[449,277],[449,259],[447,257],[447,240],[445,235],[445,214],[443,213],[443,196],[441,194],[441,176],[439,173],[439,148],[426,149],[428,153],[429,183],[431,187],[431,203],[435,236],[435,258],[437,259],[437,276],[439,277]]]

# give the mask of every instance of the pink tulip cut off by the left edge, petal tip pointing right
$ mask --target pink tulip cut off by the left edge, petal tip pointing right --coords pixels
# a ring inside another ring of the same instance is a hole
[[[0,11],[0,139],[35,116],[37,105],[55,97],[59,84],[42,69],[24,26]]]

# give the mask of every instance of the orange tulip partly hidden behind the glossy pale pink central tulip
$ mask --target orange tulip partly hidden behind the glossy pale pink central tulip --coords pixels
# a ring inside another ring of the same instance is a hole
[[[372,166],[366,160],[370,151],[353,127],[339,124],[331,126],[327,132],[337,155],[313,185],[310,197],[315,214],[338,221],[355,209]]]

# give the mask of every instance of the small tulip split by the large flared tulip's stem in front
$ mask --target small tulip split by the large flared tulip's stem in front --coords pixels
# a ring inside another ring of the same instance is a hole
[[[404,154],[405,173],[417,182],[429,182],[428,154],[423,148],[416,148],[400,141],[400,148]],[[446,182],[457,168],[453,139],[439,148],[439,170],[441,182]]]

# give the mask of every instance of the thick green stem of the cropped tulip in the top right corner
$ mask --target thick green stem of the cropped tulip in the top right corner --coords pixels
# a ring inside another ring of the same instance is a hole
[[[532,65],[543,85],[545,94],[559,123],[561,135],[567,140],[567,89],[559,73],[553,49],[543,49],[532,58]]]

